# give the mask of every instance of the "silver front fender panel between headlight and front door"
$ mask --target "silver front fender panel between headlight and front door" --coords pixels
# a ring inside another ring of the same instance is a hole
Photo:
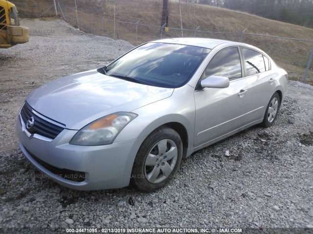
[[[188,149],[193,147],[195,125],[194,89],[189,85],[175,89],[173,95],[132,112],[138,116],[116,137],[114,142],[147,137],[158,127],[176,122],[188,135]]]

